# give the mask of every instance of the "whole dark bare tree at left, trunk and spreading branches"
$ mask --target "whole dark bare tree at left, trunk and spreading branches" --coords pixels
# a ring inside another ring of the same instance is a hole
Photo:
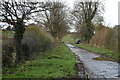
[[[24,20],[32,13],[45,11],[46,8],[43,3],[22,2],[18,0],[2,0],[0,1],[0,21],[14,26],[15,29],[15,47],[16,47],[16,62],[20,63],[23,58],[22,43],[23,34],[25,32]]]

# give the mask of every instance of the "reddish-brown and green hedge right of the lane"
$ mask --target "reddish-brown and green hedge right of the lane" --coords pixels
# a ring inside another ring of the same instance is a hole
[[[91,45],[99,46],[101,48],[106,48],[118,51],[118,31],[117,27],[108,28],[104,27],[98,31],[90,40]]]

